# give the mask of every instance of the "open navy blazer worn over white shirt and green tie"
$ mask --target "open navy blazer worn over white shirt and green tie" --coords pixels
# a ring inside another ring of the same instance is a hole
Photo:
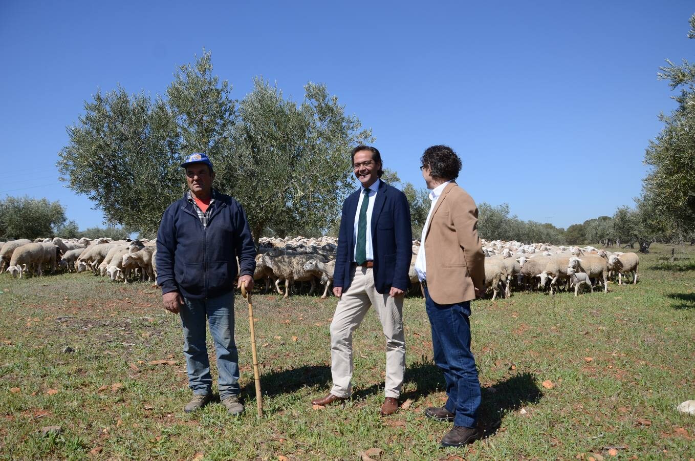
[[[362,188],[350,194],[343,203],[341,230],[338,234],[336,270],[333,286],[350,286],[354,262],[354,216]],[[391,286],[405,290],[410,285],[410,260],[413,236],[410,229],[410,207],[405,194],[384,181],[379,182],[372,211],[372,248],[374,250],[374,283],[379,293],[389,293]]]

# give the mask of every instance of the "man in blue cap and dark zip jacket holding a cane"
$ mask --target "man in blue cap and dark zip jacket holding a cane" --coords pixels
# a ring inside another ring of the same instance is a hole
[[[254,286],[256,249],[241,205],[213,190],[215,172],[206,154],[190,154],[181,164],[188,189],[162,216],[157,232],[157,284],[164,307],[180,314],[188,387],[184,411],[193,412],[212,399],[206,348],[206,319],[215,343],[220,400],[240,414],[238,353],[234,343],[234,280]]]

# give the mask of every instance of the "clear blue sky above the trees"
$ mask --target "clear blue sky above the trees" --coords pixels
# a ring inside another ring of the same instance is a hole
[[[403,181],[424,187],[420,155],[448,144],[477,202],[567,227],[632,205],[674,106],[658,67],[695,49],[692,1],[333,3],[0,2],[0,197],[101,225],[58,182],[65,127],[97,88],[163,94],[205,48],[236,99],[254,76],[295,100],[325,83]]]

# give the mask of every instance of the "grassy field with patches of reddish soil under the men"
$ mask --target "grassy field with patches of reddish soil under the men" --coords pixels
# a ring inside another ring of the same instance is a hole
[[[445,400],[423,300],[405,302],[407,410],[384,418],[384,339],[368,314],[354,339],[354,394],[313,410],[329,390],[336,298],[255,293],[265,416],[255,414],[249,325],[237,297],[236,339],[247,410],[190,398],[179,319],[150,284],[90,275],[0,275],[0,458],[357,460],[689,459],[695,416],[695,250],[653,245],[636,286],[513,293],[473,303],[484,438],[439,448]],[[208,348],[214,356],[211,341]],[[66,348],[72,349],[66,352]],[[214,362],[214,361],[212,361]],[[216,375],[213,368],[213,375]],[[60,431],[42,428],[60,426]]]

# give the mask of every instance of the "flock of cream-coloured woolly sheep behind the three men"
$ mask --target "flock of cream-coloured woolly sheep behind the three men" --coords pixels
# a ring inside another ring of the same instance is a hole
[[[629,252],[608,252],[586,246],[564,247],[545,243],[524,244],[516,241],[482,240],[485,254],[485,284],[494,300],[500,289],[505,297],[516,289],[548,289],[550,294],[561,288],[574,287],[575,296],[582,284],[594,291],[594,284],[607,291],[608,280],[632,273],[637,283],[639,257]],[[325,285],[321,298],[327,298],[333,282],[337,239],[334,237],[269,238],[259,241],[254,280],[265,282],[265,291],[274,286],[285,298],[290,296],[295,282],[309,282],[309,294],[316,283]],[[413,242],[410,264],[411,284],[418,289],[415,261],[420,243]],[[0,273],[13,277],[25,274],[41,275],[44,270],[55,273],[59,268],[68,272],[91,270],[95,275],[108,276],[113,282],[156,280],[156,241],[112,241],[110,238],[27,239],[0,242]],[[284,292],[281,289],[284,282]]]

